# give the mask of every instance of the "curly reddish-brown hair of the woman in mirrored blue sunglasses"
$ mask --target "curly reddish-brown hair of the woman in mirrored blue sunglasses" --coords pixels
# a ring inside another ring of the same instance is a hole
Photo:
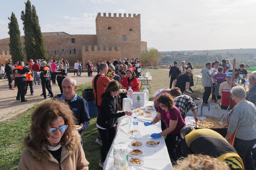
[[[68,126],[60,139],[61,145],[74,137],[72,130],[77,121],[69,105],[61,99],[49,100],[39,104],[31,114],[30,134],[34,146],[41,147],[43,145],[51,135],[49,129],[52,128],[53,121],[58,117],[63,117],[65,125]]]

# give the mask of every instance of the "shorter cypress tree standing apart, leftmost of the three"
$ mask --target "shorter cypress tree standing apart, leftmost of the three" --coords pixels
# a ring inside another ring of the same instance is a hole
[[[20,39],[20,31],[19,31],[19,25],[17,18],[15,17],[15,14],[12,12],[11,18],[8,17],[10,22],[8,23],[9,32],[10,35],[10,55],[12,55],[13,62],[25,60],[25,55],[22,50],[22,42]]]

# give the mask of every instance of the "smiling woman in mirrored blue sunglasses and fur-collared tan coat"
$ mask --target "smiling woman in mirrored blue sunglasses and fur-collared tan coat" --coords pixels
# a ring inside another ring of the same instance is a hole
[[[24,139],[25,150],[18,170],[88,169],[75,122],[64,101],[45,101],[38,105],[31,114],[30,134]]]

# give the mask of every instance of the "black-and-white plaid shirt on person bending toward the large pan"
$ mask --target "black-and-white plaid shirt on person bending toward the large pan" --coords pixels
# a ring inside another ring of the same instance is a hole
[[[175,97],[173,100],[174,100],[174,105],[180,110],[180,113],[183,119],[185,119],[186,114],[190,109],[192,111],[196,111],[197,106],[193,101],[193,99],[188,95],[181,95],[181,96]]]

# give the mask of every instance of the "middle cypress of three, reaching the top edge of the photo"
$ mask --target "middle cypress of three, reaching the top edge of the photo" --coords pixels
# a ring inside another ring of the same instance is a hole
[[[28,0],[27,3],[25,3],[25,12],[21,12],[21,19],[23,21],[23,30],[24,30],[24,44],[25,44],[25,53],[27,57],[27,61],[29,59],[36,60],[38,58],[35,57],[35,34],[34,30],[32,27],[32,8],[31,8],[31,3]]]

